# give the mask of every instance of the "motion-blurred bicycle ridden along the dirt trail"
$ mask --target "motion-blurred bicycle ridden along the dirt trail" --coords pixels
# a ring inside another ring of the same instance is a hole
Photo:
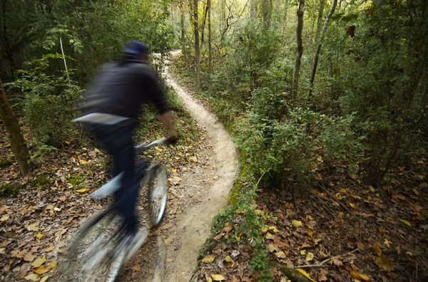
[[[165,138],[161,138],[135,148],[148,150],[165,141]],[[123,172],[93,192],[90,197],[104,199],[114,194],[120,188],[122,175]],[[123,263],[144,244],[149,230],[161,224],[167,202],[167,177],[161,162],[148,164],[146,160],[140,160],[136,164],[136,181],[139,183],[138,189],[142,196],[140,198],[146,199],[148,228],[138,231],[137,241],[136,236],[127,236],[126,229],[121,225],[121,216],[117,212],[120,202],[111,204],[107,209],[92,216],[79,229],[68,249],[66,281],[115,281]],[[104,277],[107,277],[106,280]]]

